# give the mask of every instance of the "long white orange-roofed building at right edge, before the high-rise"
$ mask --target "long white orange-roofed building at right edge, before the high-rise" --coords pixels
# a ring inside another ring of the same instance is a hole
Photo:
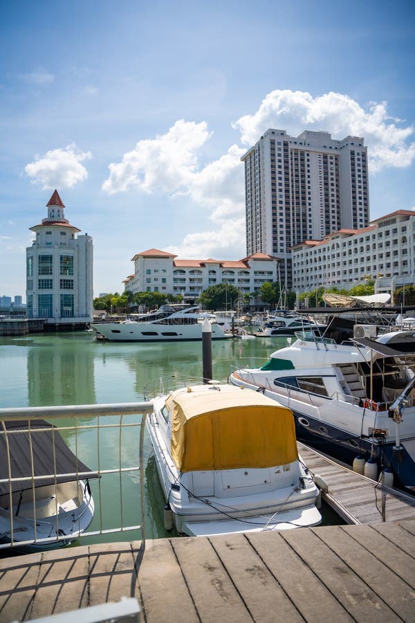
[[[324,240],[293,246],[293,289],[350,289],[376,280],[376,293],[415,282],[415,210],[396,210],[361,229],[340,229]]]

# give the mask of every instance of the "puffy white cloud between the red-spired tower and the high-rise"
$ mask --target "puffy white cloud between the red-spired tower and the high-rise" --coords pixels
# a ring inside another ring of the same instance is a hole
[[[120,163],[111,163],[102,190],[112,195],[133,186],[167,193],[186,188],[197,167],[196,151],[209,137],[205,121],[178,120],[166,134],[138,141]]]

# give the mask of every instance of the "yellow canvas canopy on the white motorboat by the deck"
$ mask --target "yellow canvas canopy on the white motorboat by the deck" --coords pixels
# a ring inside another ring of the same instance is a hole
[[[259,392],[185,388],[166,404],[181,472],[272,467],[298,458],[293,413]]]

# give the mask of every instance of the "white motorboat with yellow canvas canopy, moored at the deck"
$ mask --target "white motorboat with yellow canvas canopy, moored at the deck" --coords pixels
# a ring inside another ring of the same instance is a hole
[[[147,429],[167,518],[172,512],[179,533],[288,530],[322,521],[290,409],[219,384],[181,388],[153,402]]]

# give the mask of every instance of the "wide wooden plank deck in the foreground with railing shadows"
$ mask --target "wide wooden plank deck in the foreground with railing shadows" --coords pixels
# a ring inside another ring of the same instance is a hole
[[[415,521],[107,543],[0,560],[2,623],[123,596],[138,599],[148,623],[415,621]]]

